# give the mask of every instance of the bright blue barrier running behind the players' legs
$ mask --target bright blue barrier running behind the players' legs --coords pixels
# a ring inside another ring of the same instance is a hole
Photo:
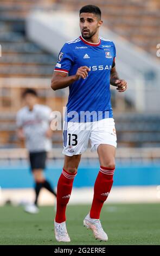
[[[57,185],[61,174],[61,164],[46,169],[46,178]],[[88,165],[80,164],[78,175],[74,180],[74,187],[92,187],[99,170],[99,163]],[[157,164],[117,164],[114,174],[114,186],[149,186],[160,184],[160,163]],[[33,177],[27,165],[1,166],[0,186],[2,188],[29,188],[33,187]]]

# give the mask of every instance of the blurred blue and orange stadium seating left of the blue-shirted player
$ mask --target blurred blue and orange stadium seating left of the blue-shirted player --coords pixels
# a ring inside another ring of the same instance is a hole
[[[39,88],[40,102],[47,103],[52,109],[61,110],[63,99],[54,98],[50,90],[50,77],[56,58],[53,54],[43,51],[25,36],[25,17],[28,12],[39,3],[39,8],[47,6],[53,1],[1,1],[0,3],[0,44],[2,57],[0,58],[0,144],[1,148],[23,147],[17,143],[15,134],[16,112],[22,106],[21,93],[24,87],[29,87],[28,78],[33,78],[32,85]],[[15,77],[15,80],[14,80]],[[40,78],[43,77],[41,81]],[[46,77],[46,80],[45,80]],[[11,79],[9,86],[6,79]],[[18,79],[22,78],[18,83]],[[48,79],[47,79],[48,78]],[[15,81],[15,82],[14,82]],[[31,86],[32,86],[31,85]],[[47,94],[47,89],[50,92]],[[48,95],[48,96],[47,96]],[[57,93],[59,95],[59,93]],[[47,96],[47,102],[46,102]],[[54,141],[61,141],[59,132],[53,135]]]

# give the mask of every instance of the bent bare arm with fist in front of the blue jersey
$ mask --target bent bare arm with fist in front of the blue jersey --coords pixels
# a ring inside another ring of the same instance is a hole
[[[53,90],[66,88],[80,78],[85,79],[88,76],[88,71],[87,66],[80,66],[76,74],[72,76],[68,76],[65,72],[54,71],[50,86]]]

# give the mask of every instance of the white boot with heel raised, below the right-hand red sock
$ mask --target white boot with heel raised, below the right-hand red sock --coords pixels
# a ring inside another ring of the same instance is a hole
[[[101,227],[99,219],[90,218],[88,214],[84,219],[84,227],[87,227],[87,229],[91,229],[93,231],[95,239],[99,239],[100,241],[108,240],[108,236],[103,230],[103,227]]]

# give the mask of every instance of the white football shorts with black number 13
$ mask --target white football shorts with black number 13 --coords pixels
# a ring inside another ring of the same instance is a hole
[[[100,144],[117,147],[117,136],[113,118],[99,121],[63,124],[63,151],[67,156],[80,155],[91,144],[91,151],[96,151]]]

